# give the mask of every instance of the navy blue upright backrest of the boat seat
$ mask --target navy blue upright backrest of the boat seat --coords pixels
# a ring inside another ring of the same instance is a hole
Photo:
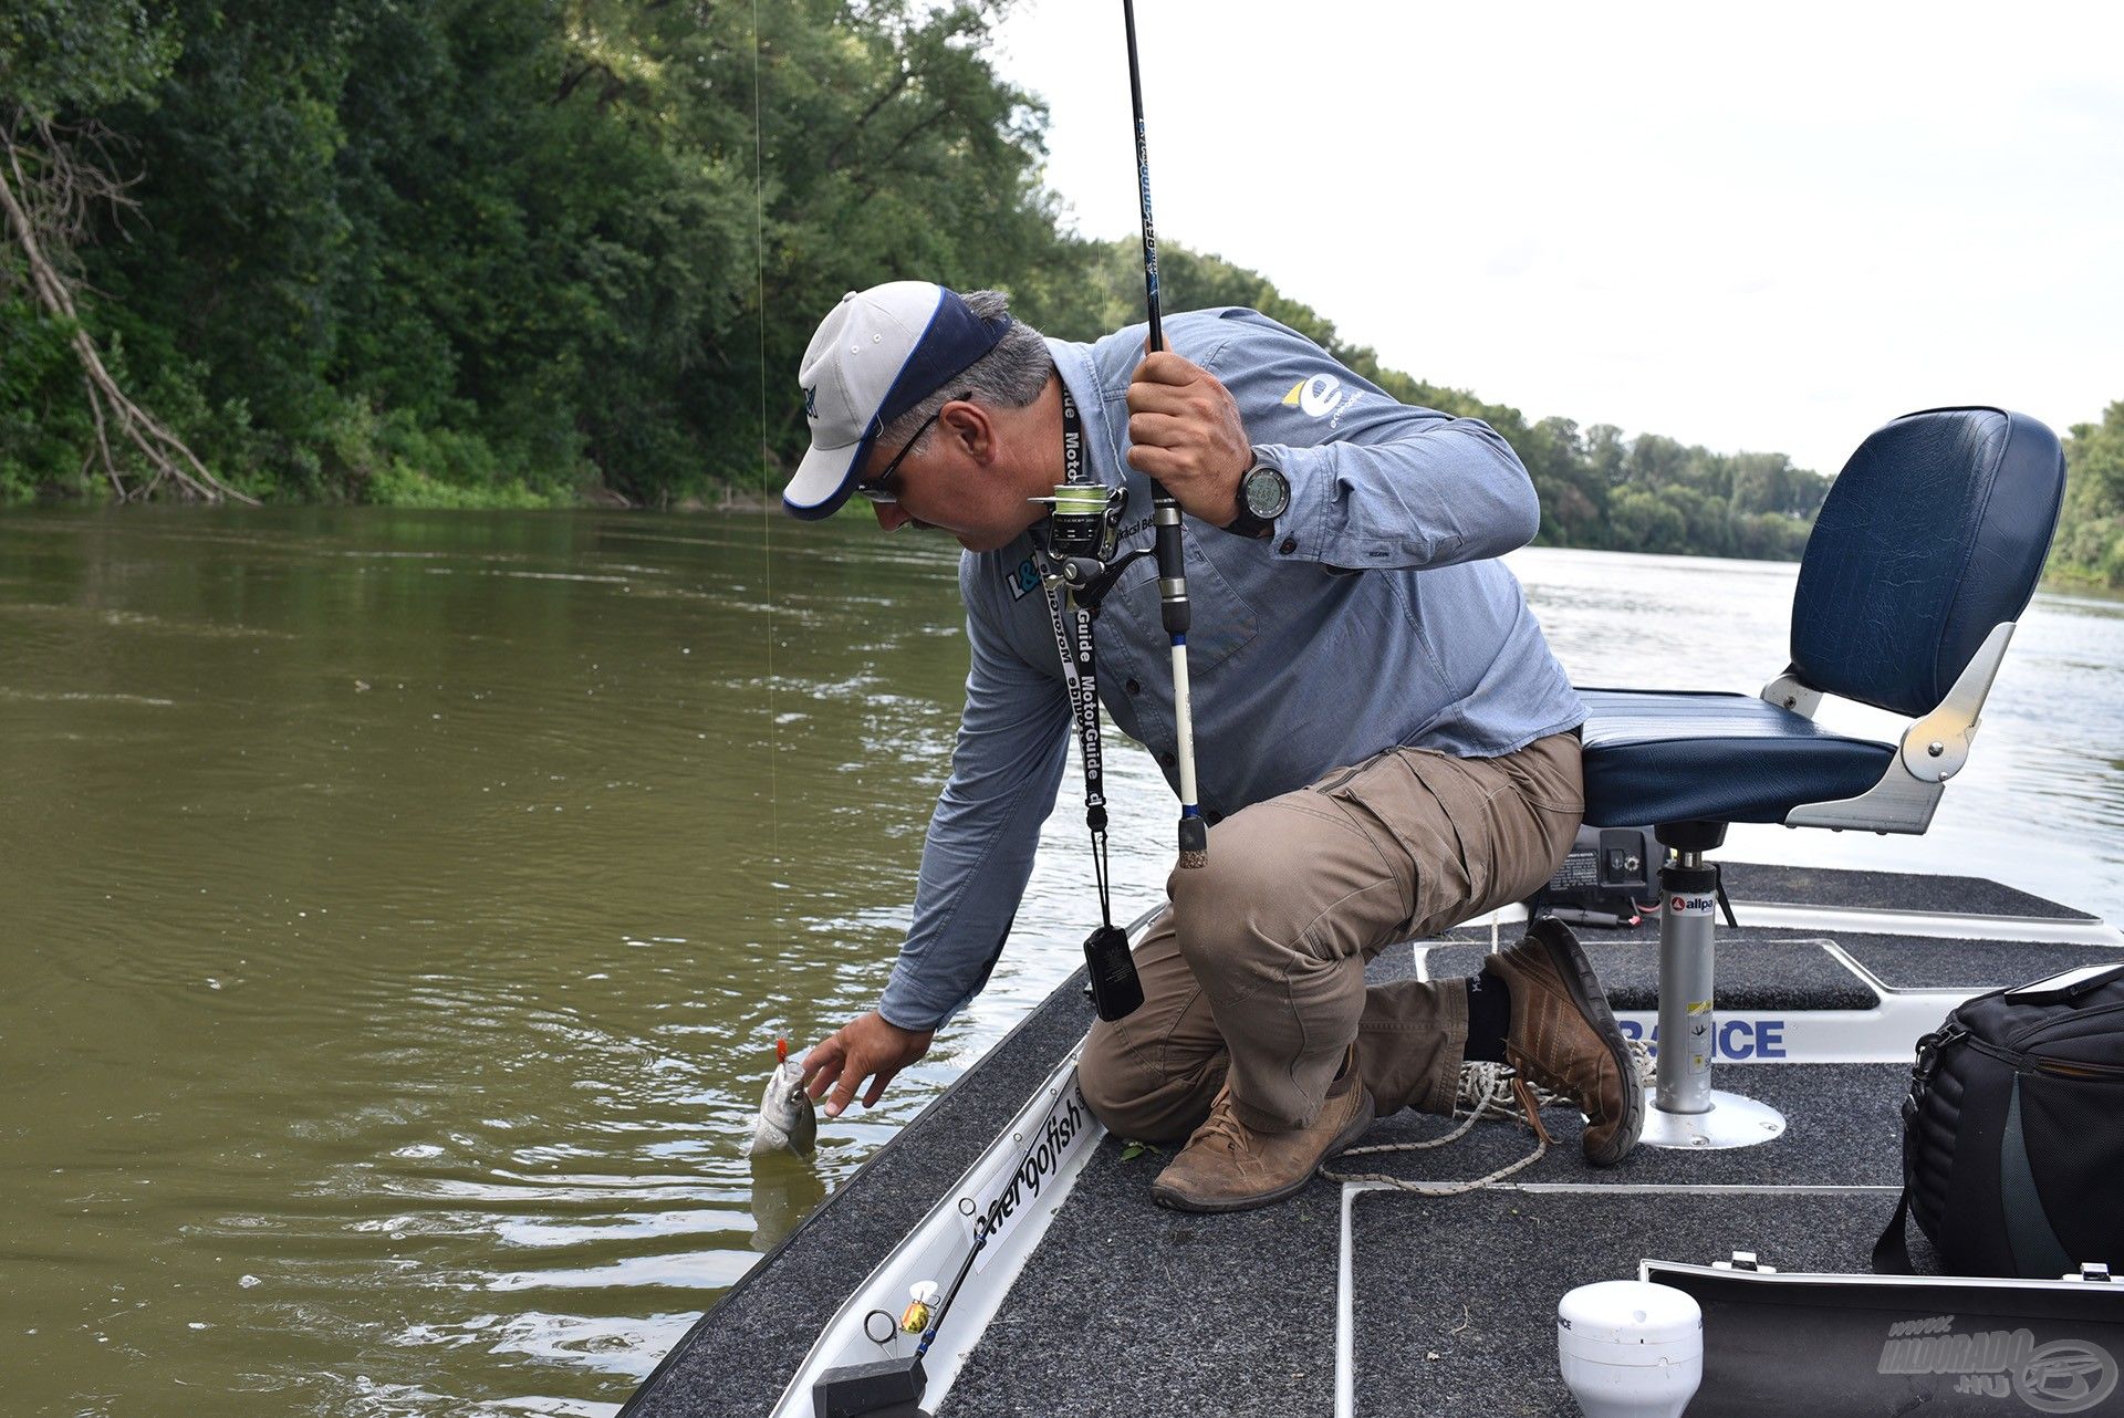
[[[1850,456],[1799,563],[1793,671],[1839,698],[1931,713],[2043,575],[2065,497],[2058,435],[2026,414],[1905,414]]]

